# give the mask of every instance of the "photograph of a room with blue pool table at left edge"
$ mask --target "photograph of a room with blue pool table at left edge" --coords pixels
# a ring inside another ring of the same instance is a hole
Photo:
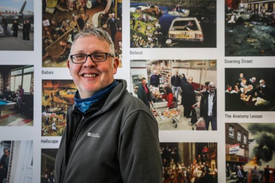
[[[34,66],[0,65],[0,126],[34,125]]]

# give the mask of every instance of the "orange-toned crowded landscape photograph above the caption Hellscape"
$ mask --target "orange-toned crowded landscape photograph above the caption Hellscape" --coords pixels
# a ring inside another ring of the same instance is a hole
[[[77,88],[72,80],[42,80],[42,136],[62,136]]]

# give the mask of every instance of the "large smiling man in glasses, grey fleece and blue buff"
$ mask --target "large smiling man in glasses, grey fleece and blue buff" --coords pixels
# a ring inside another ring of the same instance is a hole
[[[126,81],[114,80],[114,53],[110,36],[99,28],[74,38],[67,65],[78,90],[56,157],[55,183],[161,183],[158,124],[126,90]]]

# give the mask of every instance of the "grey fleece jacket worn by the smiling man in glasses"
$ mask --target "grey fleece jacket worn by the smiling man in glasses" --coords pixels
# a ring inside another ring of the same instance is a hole
[[[162,182],[157,122],[144,103],[126,90],[126,81],[117,81],[100,109],[82,115],[73,112],[74,106],[68,109],[55,183]],[[82,126],[68,158],[75,120]]]

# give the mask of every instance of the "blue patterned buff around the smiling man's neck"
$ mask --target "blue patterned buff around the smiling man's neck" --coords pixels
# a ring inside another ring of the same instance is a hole
[[[78,91],[76,91],[74,95],[74,103],[75,106],[82,112],[85,113],[91,105],[93,105],[96,101],[98,101],[101,97],[104,96],[104,94],[108,93],[109,91],[112,91],[115,86],[118,84],[116,80],[105,88],[101,89],[100,91],[97,91],[93,96],[89,98],[79,98]]]

